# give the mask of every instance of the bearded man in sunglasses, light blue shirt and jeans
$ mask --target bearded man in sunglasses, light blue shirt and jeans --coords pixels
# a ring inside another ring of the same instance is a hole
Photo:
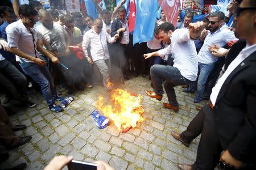
[[[199,103],[203,99],[205,84],[208,76],[212,71],[217,57],[214,57],[209,50],[209,45],[217,44],[224,46],[229,41],[238,40],[233,31],[227,29],[224,23],[225,14],[223,12],[215,12],[209,18],[209,32],[205,37],[204,44],[198,54],[198,70],[199,76],[197,80],[197,92],[194,103]],[[194,92],[196,89],[196,81],[189,84],[189,87],[184,92]]]

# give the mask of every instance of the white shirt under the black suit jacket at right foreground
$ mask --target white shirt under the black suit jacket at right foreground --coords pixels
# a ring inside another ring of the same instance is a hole
[[[228,69],[226,69],[225,73],[221,76],[220,79],[218,79],[218,82],[215,84],[215,86],[212,88],[212,94],[210,94],[210,101],[212,101],[212,104],[216,104],[216,100],[218,97],[218,93],[221,90],[222,85],[224,84],[225,80],[228,78],[228,76],[236,69],[236,67],[243,66],[245,63],[243,61],[250,56],[251,53],[255,52],[256,44],[254,45],[247,45],[245,48],[242,49],[242,51],[238,54],[238,56],[230,63],[228,66]]]

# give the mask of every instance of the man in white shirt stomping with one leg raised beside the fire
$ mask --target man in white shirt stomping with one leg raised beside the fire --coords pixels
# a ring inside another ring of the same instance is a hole
[[[197,78],[197,53],[196,47],[192,39],[199,37],[203,22],[192,23],[190,29],[176,29],[171,23],[163,23],[159,25],[158,36],[166,44],[170,44],[167,48],[144,54],[144,57],[152,56],[164,57],[166,54],[172,53],[174,58],[174,66],[154,65],[150,68],[151,82],[154,92],[145,90],[146,94],[157,100],[162,100],[164,91],[162,87],[162,79],[165,79],[164,89],[168,96],[169,103],[163,103],[164,107],[179,111],[179,104],[176,100],[175,86],[189,84]],[[194,29],[197,29],[198,31]]]

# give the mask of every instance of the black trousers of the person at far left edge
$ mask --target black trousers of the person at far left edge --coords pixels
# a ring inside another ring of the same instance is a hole
[[[6,59],[0,61],[0,84],[6,90],[6,94],[22,103],[27,102],[27,79],[16,67]]]

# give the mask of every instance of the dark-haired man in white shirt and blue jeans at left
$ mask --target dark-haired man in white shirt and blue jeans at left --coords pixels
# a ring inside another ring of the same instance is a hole
[[[16,54],[24,73],[39,84],[48,108],[53,112],[61,112],[62,108],[55,105],[55,101],[60,101],[61,98],[57,96],[52,76],[46,62],[39,58],[38,50],[53,63],[59,63],[59,59],[38,44],[37,32],[33,28],[38,22],[38,11],[26,4],[20,5],[19,17],[18,21],[6,28],[10,52]]]

